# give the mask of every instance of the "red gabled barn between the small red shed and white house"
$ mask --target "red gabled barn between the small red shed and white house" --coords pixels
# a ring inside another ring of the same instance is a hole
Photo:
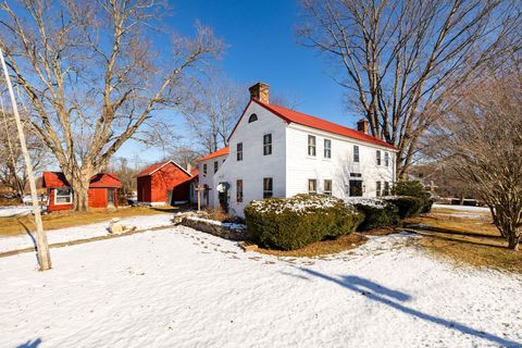
[[[190,182],[196,176],[174,161],[152,164],[136,175],[138,202],[151,206],[188,202]]]

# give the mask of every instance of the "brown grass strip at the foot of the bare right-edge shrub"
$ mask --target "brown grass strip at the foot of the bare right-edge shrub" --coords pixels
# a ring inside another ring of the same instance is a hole
[[[522,252],[520,251],[436,237],[420,238],[418,246],[457,264],[522,274]]]

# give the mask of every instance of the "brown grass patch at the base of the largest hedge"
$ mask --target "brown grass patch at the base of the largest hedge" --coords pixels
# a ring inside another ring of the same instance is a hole
[[[312,243],[304,248],[297,250],[271,250],[258,248],[257,251],[277,257],[294,257],[294,258],[311,258],[323,254],[338,253],[345,250],[357,248],[366,243],[368,238],[361,234],[349,234],[337,237],[336,239],[327,239]]]

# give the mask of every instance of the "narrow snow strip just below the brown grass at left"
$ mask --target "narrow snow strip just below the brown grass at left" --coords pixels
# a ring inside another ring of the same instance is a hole
[[[121,219],[120,223],[123,226],[136,226],[137,229],[146,229],[171,225],[172,217],[172,214],[138,215]],[[110,219],[96,224],[49,229],[47,231],[47,240],[49,244],[55,244],[105,236],[109,234],[107,229],[109,227],[109,223]],[[0,237],[0,252],[33,248],[35,247],[35,240],[33,238],[34,237],[27,233],[11,237]]]

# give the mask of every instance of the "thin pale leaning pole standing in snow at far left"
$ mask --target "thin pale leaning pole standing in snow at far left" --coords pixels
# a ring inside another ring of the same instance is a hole
[[[33,173],[33,164],[30,162],[29,152],[27,151],[27,144],[25,141],[24,128],[22,121],[20,120],[18,108],[16,100],[14,99],[13,86],[11,85],[11,78],[9,76],[8,66],[3,59],[3,51],[0,49],[0,60],[2,63],[3,74],[5,76],[5,84],[8,85],[9,95],[13,104],[14,120],[16,121],[16,128],[18,130],[20,146],[22,153],[24,154],[25,166],[27,167],[27,176],[29,178],[30,198],[33,200],[33,210],[35,213],[36,225],[36,249],[38,253],[38,263],[40,264],[40,271],[51,269],[51,256],[49,254],[49,246],[47,245],[47,236],[44,232],[44,224],[41,223],[40,206],[38,204],[38,198],[36,194],[35,175]]]

